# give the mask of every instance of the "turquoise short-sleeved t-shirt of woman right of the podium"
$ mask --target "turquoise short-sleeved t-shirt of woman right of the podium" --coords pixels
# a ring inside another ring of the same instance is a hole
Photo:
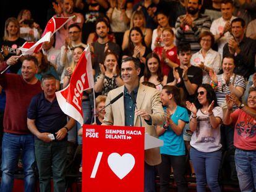
[[[166,107],[164,107],[164,112],[166,112]],[[173,120],[176,125],[179,120],[188,123],[189,114],[187,114],[187,109],[177,106],[176,111],[171,115],[171,120]],[[159,138],[164,141],[164,145],[160,147],[161,154],[168,154],[171,156],[184,156],[186,154],[183,135],[176,135],[170,126],[163,135],[159,136]]]

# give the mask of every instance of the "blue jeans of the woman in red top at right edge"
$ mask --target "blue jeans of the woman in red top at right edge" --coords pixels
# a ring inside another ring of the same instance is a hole
[[[236,172],[242,192],[256,190],[256,151],[236,149]]]

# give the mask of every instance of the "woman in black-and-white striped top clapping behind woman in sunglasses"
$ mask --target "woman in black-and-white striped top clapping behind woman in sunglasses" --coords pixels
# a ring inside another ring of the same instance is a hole
[[[245,90],[245,80],[241,75],[234,73],[234,56],[229,55],[223,58],[222,69],[223,73],[216,75],[210,72],[211,86],[215,88],[216,98],[219,106],[226,109],[225,96],[226,94],[235,94],[237,98],[241,98]],[[237,109],[239,106],[234,106]],[[229,163],[229,177],[231,180],[237,179],[236,168],[234,164],[234,128],[229,125],[221,125],[221,143],[223,144],[223,151],[226,151]]]

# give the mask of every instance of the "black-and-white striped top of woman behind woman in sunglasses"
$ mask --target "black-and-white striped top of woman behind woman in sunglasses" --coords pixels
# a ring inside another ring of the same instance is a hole
[[[216,98],[217,98],[217,103],[219,106],[226,102],[225,96],[226,94],[230,94],[231,92],[229,91],[229,87],[225,85],[224,83],[224,78],[223,74],[217,75],[217,80],[218,80],[218,86],[216,87]],[[236,86],[241,86],[242,88],[245,89],[245,80],[244,77],[241,75],[236,75],[233,74],[232,77],[230,78],[230,82],[236,87]],[[237,106],[234,106],[233,109],[237,109]]]

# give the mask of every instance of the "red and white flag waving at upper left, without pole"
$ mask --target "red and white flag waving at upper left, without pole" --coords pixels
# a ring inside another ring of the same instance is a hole
[[[41,39],[35,42],[25,42],[20,48],[22,51],[22,55],[33,54],[34,52],[38,52],[42,48],[42,44],[46,41],[51,40],[51,36],[53,36],[56,31],[58,31],[63,25],[69,22],[72,17],[52,17],[48,23],[46,24],[45,31],[43,31],[43,35]]]

